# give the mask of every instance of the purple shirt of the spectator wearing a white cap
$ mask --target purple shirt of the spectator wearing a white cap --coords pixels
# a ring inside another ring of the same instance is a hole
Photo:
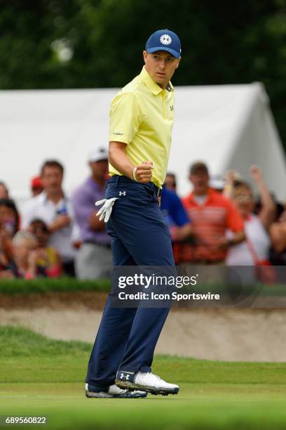
[[[97,200],[104,198],[104,190],[100,188],[92,178],[81,185],[74,193],[72,202],[74,206],[74,219],[79,226],[81,240],[97,245],[110,245],[111,237],[105,230],[93,230],[90,228],[89,219],[93,212],[100,207],[95,207]]]

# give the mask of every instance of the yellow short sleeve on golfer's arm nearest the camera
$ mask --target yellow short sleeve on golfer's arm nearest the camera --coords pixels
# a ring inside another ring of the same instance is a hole
[[[111,102],[109,141],[130,143],[140,125],[140,110],[134,93],[119,93]]]

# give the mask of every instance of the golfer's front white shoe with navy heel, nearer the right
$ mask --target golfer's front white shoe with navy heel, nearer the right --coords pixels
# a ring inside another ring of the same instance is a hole
[[[151,372],[125,372],[116,374],[116,385],[121,389],[144,390],[151,394],[177,394],[179,386],[165,382],[161,377]]]

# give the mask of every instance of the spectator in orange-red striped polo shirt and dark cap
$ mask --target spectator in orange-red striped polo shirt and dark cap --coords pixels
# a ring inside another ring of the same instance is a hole
[[[230,246],[245,239],[243,219],[231,200],[210,188],[207,166],[196,162],[191,166],[193,191],[182,203],[191,219],[193,244],[184,243],[180,262],[219,263],[226,258]],[[232,239],[226,230],[232,230]]]

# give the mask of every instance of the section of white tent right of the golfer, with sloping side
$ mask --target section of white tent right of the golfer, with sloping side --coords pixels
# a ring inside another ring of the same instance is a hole
[[[200,159],[211,175],[235,169],[250,182],[249,167],[257,164],[285,200],[285,152],[262,84],[180,87],[176,99],[169,169],[178,173],[182,193],[190,188],[189,165]]]

